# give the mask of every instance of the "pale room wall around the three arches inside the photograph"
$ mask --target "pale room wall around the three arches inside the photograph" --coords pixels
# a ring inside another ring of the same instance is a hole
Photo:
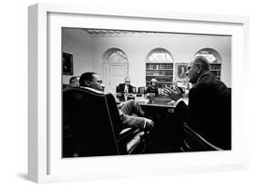
[[[200,49],[212,48],[220,54],[223,61],[221,81],[231,86],[230,36],[169,34],[89,37],[80,29],[66,28],[63,30],[62,38],[63,51],[74,56],[74,75],[80,75],[83,71],[93,71],[103,78],[102,56],[109,48],[116,47],[127,54],[128,76],[131,84],[138,87],[146,85],[146,57],[151,50],[164,48],[173,56],[174,63],[188,63]],[[69,77],[64,75],[63,83],[67,84]],[[103,81],[106,83],[106,80]],[[123,80],[120,80],[120,83],[122,82]]]

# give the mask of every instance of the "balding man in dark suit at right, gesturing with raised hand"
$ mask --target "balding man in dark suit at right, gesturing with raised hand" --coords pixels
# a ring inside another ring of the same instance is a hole
[[[231,94],[230,89],[210,74],[210,64],[203,56],[197,56],[186,74],[193,84],[189,90],[187,123],[213,145],[231,148]],[[180,94],[165,88],[164,94],[176,102]]]

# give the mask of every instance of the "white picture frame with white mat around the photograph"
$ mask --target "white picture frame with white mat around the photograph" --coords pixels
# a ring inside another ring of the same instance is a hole
[[[242,104],[244,94],[240,91],[240,85],[248,83],[248,74],[244,71],[249,67],[248,17],[102,10],[97,7],[51,4],[31,5],[28,12],[29,180],[63,182],[249,168],[249,122],[245,119],[245,106]],[[106,19],[108,22],[105,22]],[[126,25],[121,24],[124,22]],[[145,24],[144,28],[141,22]],[[141,30],[159,25],[154,28],[155,31],[232,35],[232,150],[61,159],[61,64],[53,63],[61,59],[61,37],[58,34],[62,26],[87,25],[104,29]]]

